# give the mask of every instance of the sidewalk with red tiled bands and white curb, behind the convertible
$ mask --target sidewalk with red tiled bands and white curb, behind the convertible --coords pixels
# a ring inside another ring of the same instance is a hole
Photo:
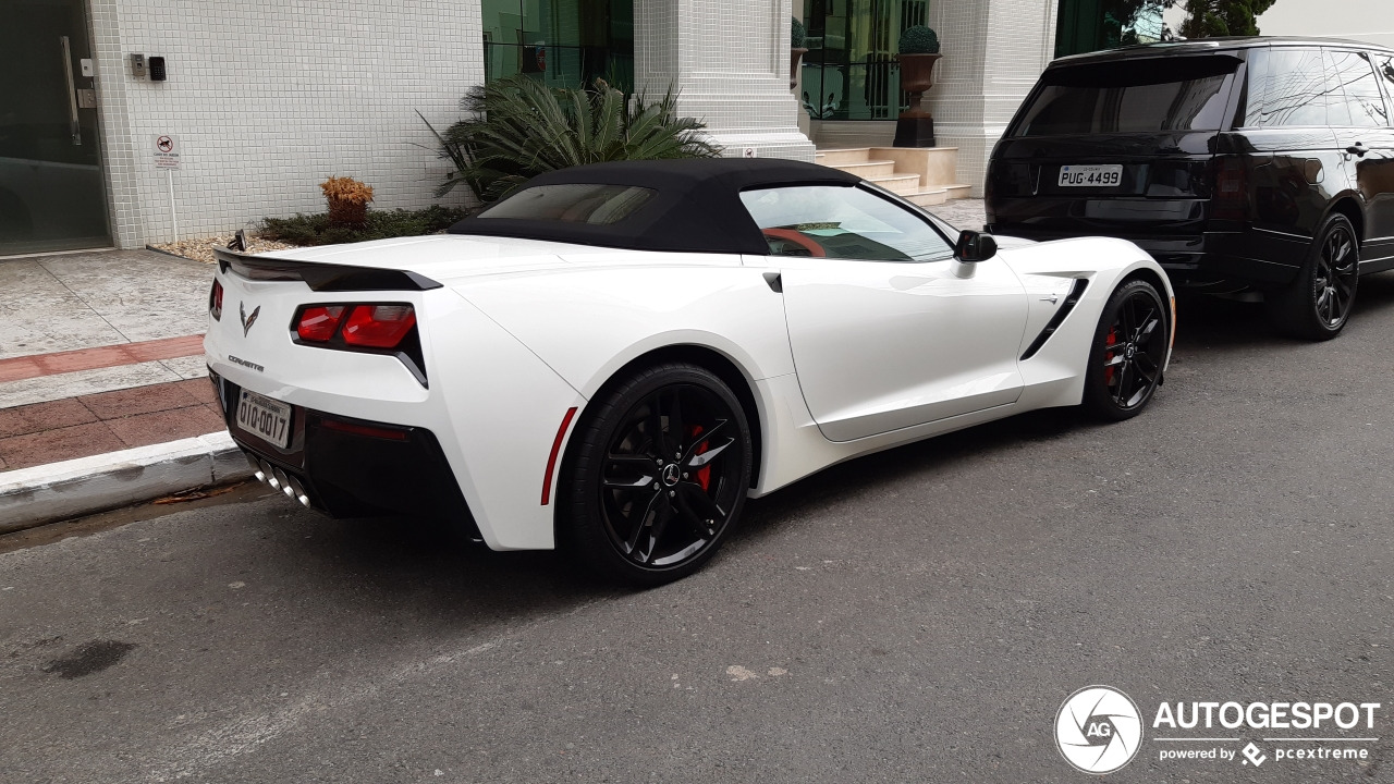
[[[933,212],[983,226],[981,199]],[[206,381],[212,278],[148,250],[0,259],[0,533],[250,476]]]

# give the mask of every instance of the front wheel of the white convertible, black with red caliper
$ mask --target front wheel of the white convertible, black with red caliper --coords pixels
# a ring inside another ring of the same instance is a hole
[[[1161,382],[1170,346],[1171,308],[1157,287],[1129,280],[1115,289],[1089,347],[1085,410],[1108,421],[1140,414]]]

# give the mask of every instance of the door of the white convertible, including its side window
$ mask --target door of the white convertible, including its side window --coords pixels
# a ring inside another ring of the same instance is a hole
[[[852,441],[1016,402],[1026,292],[1001,259],[955,275],[948,237],[863,187],[746,191],[781,271],[822,434]]]

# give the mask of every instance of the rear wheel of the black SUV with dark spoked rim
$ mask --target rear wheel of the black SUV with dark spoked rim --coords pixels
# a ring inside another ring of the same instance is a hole
[[[1349,218],[1331,213],[1312,240],[1296,279],[1269,292],[1269,319],[1292,338],[1330,340],[1351,317],[1359,280],[1361,243],[1355,226]]]

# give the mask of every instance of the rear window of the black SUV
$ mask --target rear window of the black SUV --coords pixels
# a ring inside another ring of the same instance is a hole
[[[1210,56],[1051,68],[1012,135],[1216,131],[1238,66]]]

